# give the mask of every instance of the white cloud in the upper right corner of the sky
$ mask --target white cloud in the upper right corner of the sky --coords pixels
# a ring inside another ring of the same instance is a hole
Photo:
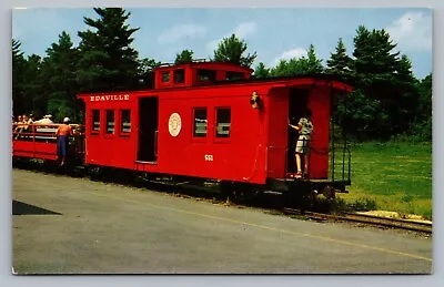
[[[386,28],[401,51],[432,49],[432,18],[421,12],[407,12]]]

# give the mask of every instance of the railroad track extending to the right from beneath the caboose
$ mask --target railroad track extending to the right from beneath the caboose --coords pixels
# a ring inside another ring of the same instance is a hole
[[[284,208],[285,214],[303,214],[310,218],[319,219],[319,221],[344,221],[344,222],[355,222],[363,223],[375,226],[384,226],[390,228],[405,229],[405,230],[414,230],[432,234],[433,226],[431,223],[423,222],[414,222],[407,219],[397,219],[390,217],[382,217],[375,215],[366,215],[366,214],[356,214],[356,213],[345,213],[342,215],[333,215],[333,214],[323,214],[323,213],[313,213],[313,212],[304,212],[302,213],[300,209]]]

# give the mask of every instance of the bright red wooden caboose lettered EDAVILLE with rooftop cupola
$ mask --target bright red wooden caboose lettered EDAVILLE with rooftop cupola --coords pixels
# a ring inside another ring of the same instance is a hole
[[[230,63],[165,65],[154,70],[152,90],[80,94],[85,164],[262,186],[299,182],[289,181],[297,135],[287,120],[309,107],[309,181],[344,189],[350,174],[344,180],[343,161],[334,178],[330,122],[332,101],[352,88],[329,75],[251,74]]]

